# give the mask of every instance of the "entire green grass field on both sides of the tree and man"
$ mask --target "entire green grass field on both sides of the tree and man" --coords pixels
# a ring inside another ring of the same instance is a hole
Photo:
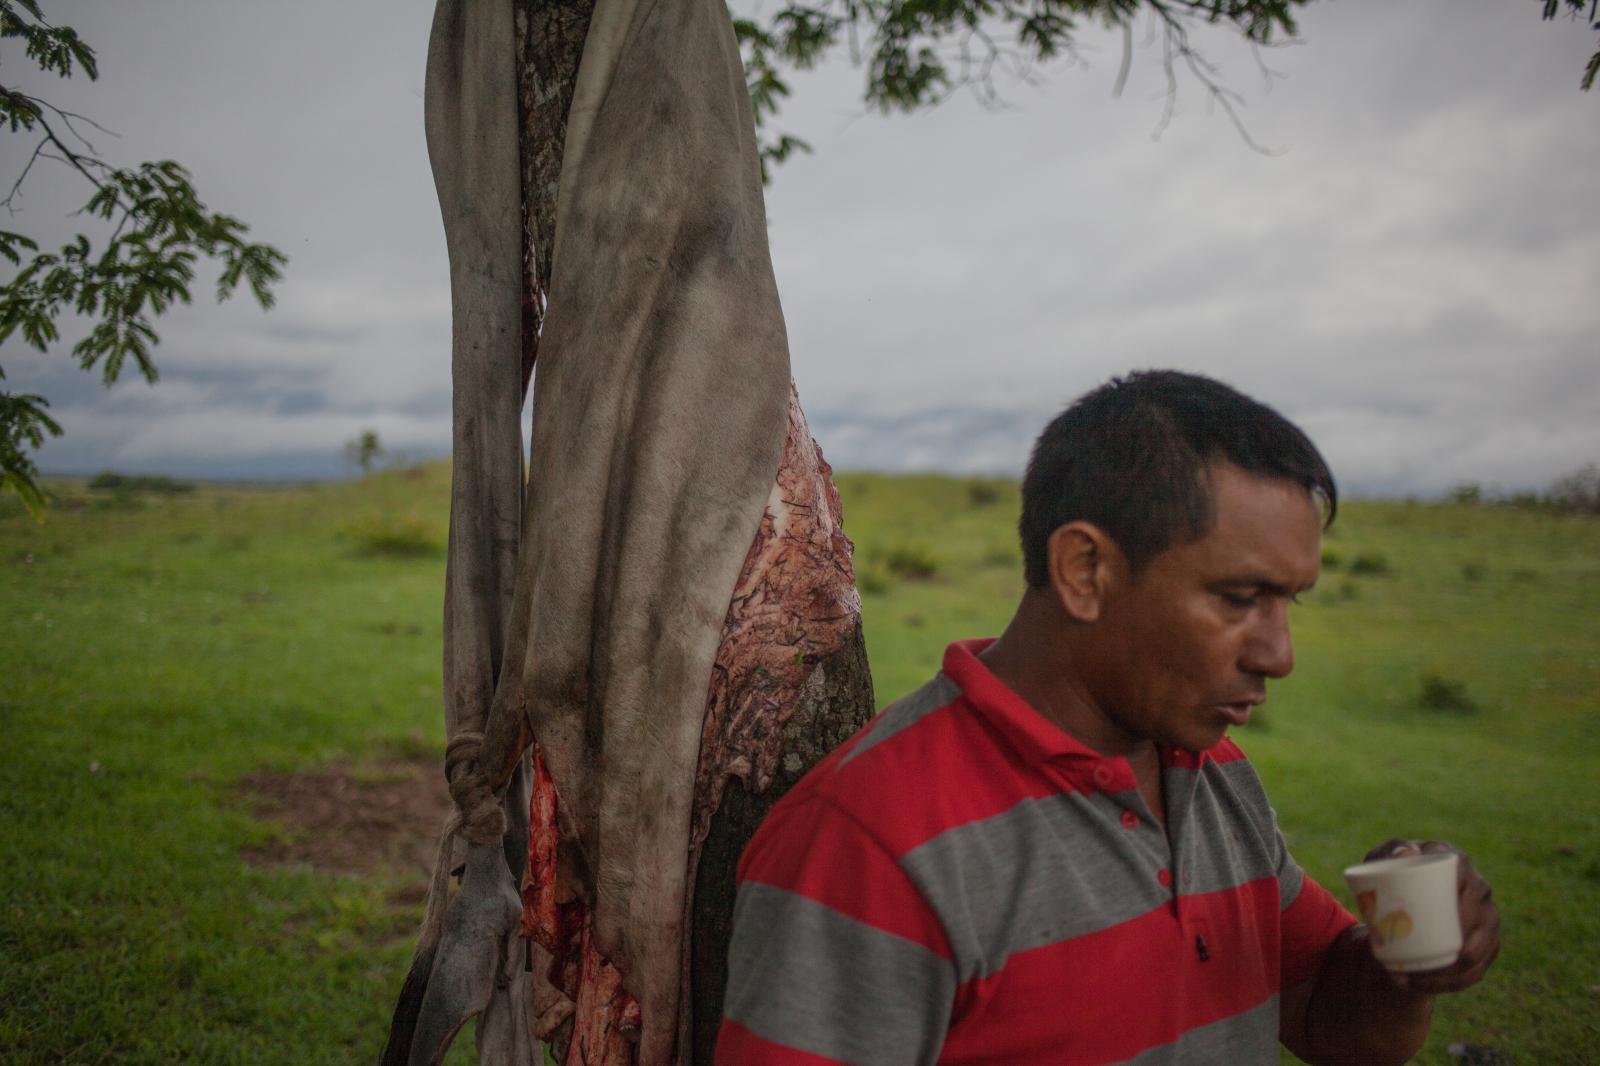
[[[838,482],[883,704],[1003,626],[1016,487]],[[440,752],[448,471],[59,488],[45,525],[0,498],[0,1061],[373,1061],[421,874],[246,861],[294,831],[240,781]],[[1325,555],[1296,674],[1238,738],[1291,847],[1341,893],[1395,834],[1494,884],[1501,960],[1421,1061],[1595,1061],[1600,522],[1354,503]]]

